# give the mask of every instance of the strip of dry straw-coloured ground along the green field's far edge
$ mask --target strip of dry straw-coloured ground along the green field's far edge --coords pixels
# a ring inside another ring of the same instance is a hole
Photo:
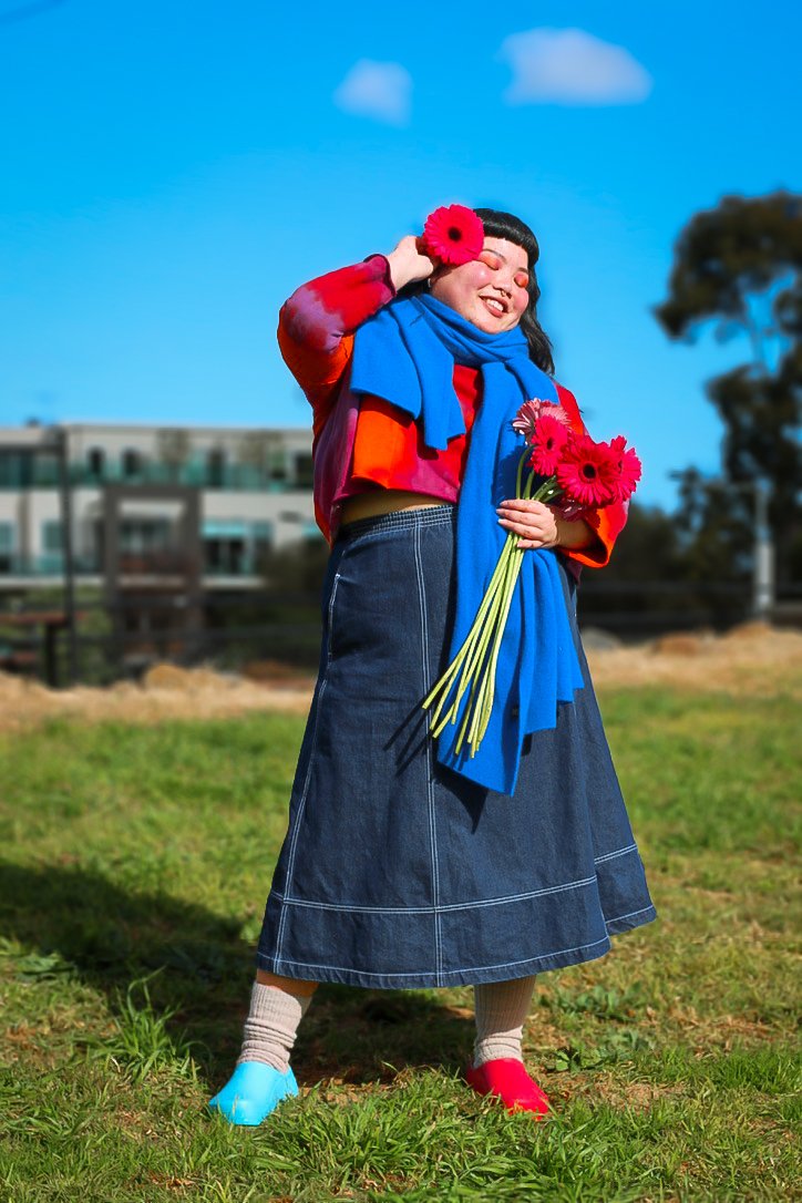
[[[636,647],[590,650],[600,688],[664,685],[693,692],[725,691],[802,697],[802,633],[747,623],[726,635],[663,635]],[[248,677],[213,669],[156,664],[141,683],[108,688],[47,689],[38,682],[0,674],[0,727],[22,729],[54,717],[88,722],[158,723],[165,718],[222,718],[248,711],[305,715],[314,681],[266,665]]]

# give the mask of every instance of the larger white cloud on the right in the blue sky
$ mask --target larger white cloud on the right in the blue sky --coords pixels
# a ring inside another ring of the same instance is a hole
[[[637,105],[652,90],[652,77],[628,49],[583,29],[511,34],[499,53],[512,69],[509,105]]]

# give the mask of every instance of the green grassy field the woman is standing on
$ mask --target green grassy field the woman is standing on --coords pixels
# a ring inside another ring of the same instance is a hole
[[[461,1083],[467,989],[323,986],[301,1097],[259,1130],[206,1114],[302,719],[0,735],[4,1203],[802,1197],[798,706],[628,689],[602,709],[659,918],[539,978],[540,1125]]]

